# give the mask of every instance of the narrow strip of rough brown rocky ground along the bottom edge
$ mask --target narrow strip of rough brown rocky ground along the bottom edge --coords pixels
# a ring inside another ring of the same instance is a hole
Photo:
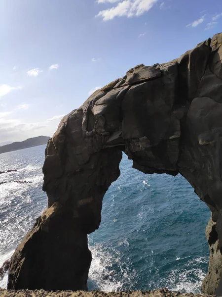
[[[193,294],[171,292],[168,289],[158,289],[154,291],[128,291],[128,292],[100,292],[100,291],[57,291],[47,292],[44,290],[4,290],[0,289],[0,297],[215,297],[215,295]]]

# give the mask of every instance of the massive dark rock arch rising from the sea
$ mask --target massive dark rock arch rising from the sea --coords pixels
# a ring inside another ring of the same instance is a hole
[[[169,63],[130,69],[65,116],[47,144],[48,209],[12,256],[8,289],[86,289],[87,234],[120,174],[122,151],[145,173],[179,172],[210,207],[213,294],[222,274],[222,34]],[[219,263],[218,263],[219,261]]]

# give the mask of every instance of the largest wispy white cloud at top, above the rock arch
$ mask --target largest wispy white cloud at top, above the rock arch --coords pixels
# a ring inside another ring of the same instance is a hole
[[[124,0],[116,6],[100,11],[97,16],[101,16],[104,21],[112,20],[116,16],[140,16],[147,12],[158,0]]]

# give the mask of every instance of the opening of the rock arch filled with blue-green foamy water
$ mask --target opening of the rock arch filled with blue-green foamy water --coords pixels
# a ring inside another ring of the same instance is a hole
[[[89,291],[200,293],[209,208],[181,175],[144,174],[125,154],[120,172],[103,198],[100,228],[89,235]]]

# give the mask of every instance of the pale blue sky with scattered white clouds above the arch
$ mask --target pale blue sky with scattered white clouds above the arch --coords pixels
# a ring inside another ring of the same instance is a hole
[[[0,145],[51,137],[93,91],[220,28],[222,0],[0,0]]]

